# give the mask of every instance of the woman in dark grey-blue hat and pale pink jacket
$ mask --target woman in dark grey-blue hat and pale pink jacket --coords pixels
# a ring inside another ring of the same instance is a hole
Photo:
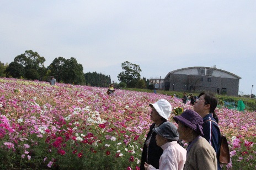
[[[163,149],[163,154],[159,160],[159,169],[183,169],[186,161],[186,150],[177,142],[179,140],[177,127],[173,123],[164,122],[153,131],[157,134],[157,146]],[[144,167],[147,170],[156,169],[147,162],[145,162]]]

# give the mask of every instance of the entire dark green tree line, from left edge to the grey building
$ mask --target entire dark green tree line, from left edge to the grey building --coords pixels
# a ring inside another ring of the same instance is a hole
[[[0,61],[0,76],[39,81],[50,81],[51,76],[54,76],[58,83],[98,87],[106,87],[111,84],[110,75],[97,72],[83,73],[83,65],[79,64],[73,57],[70,59],[55,58],[47,68],[44,62],[45,58],[41,57],[38,52],[27,50],[16,56],[14,61],[9,64]],[[148,87],[150,80],[141,79],[139,65],[126,61],[121,63],[121,67],[124,71],[118,75],[120,83],[116,83],[116,87],[137,87],[141,89]]]

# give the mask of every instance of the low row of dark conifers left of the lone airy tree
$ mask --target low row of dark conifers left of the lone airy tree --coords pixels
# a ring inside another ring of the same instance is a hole
[[[108,87],[111,84],[111,78],[108,75],[104,75],[102,73],[86,73],[84,74],[86,78],[86,84],[90,86],[96,87]]]

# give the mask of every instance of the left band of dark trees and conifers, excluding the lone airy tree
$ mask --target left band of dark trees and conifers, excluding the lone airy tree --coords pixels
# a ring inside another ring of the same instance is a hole
[[[39,81],[50,81],[51,76],[54,76],[59,83],[90,84],[92,86],[108,86],[111,82],[110,76],[102,73],[84,74],[83,65],[79,64],[73,57],[70,59],[55,58],[47,68],[44,62],[45,58],[41,57],[38,52],[27,50],[25,53],[16,56],[14,61],[9,64],[0,62],[0,76]],[[103,81],[104,84],[98,81]]]

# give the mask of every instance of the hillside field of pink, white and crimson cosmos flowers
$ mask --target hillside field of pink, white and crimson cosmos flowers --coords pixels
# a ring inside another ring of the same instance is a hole
[[[173,96],[0,78],[0,169],[140,169],[149,103]],[[255,112],[217,108],[230,144],[224,169],[255,169]]]

